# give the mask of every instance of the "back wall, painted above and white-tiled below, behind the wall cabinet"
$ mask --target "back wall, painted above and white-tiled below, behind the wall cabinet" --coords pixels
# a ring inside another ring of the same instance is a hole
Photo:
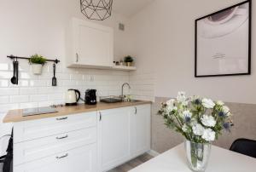
[[[97,89],[98,95],[120,95],[122,83],[129,82],[129,72],[66,68],[65,36],[72,17],[85,20],[80,13],[79,0],[0,0],[0,136],[10,133],[12,124],[2,123],[9,109],[64,103],[67,89],[79,89],[83,96],[85,89]],[[129,53],[131,44],[127,34],[118,30],[119,22],[126,23],[125,17],[119,14],[98,21],[113,27],[117,60]],[[58,87],[51,87],[52,63],[44,66],[41,76],[34,76],[26,60],[19,61],[19,85],[9,82],[13,75],[12,61],[6,56],[35,53],[61,60],[56,66]],[[6,149],[2,142],[0,140],[0,155]]]

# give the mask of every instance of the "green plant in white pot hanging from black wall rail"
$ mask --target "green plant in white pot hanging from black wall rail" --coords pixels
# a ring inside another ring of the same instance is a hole
[[[29,63],[32,66],[32,72],[35,75],[40,75],[42,73],[42,68],[46,63],[46,59],[42,55],[33,54],[29,59]]]

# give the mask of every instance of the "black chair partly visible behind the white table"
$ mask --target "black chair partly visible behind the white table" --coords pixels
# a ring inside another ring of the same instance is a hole
[[[256,158],[256,140],[237,139],[230,146],[230,151]]]

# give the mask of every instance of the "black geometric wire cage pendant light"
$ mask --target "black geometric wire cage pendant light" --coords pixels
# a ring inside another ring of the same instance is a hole
[[[90,20],[105,20],[111,16],[113,0],[80,0],[81,12]]]

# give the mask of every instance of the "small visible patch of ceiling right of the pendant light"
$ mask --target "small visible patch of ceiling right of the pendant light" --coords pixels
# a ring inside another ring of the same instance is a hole
[[[113,12],[131,17],[154,0],[113,0]]]

